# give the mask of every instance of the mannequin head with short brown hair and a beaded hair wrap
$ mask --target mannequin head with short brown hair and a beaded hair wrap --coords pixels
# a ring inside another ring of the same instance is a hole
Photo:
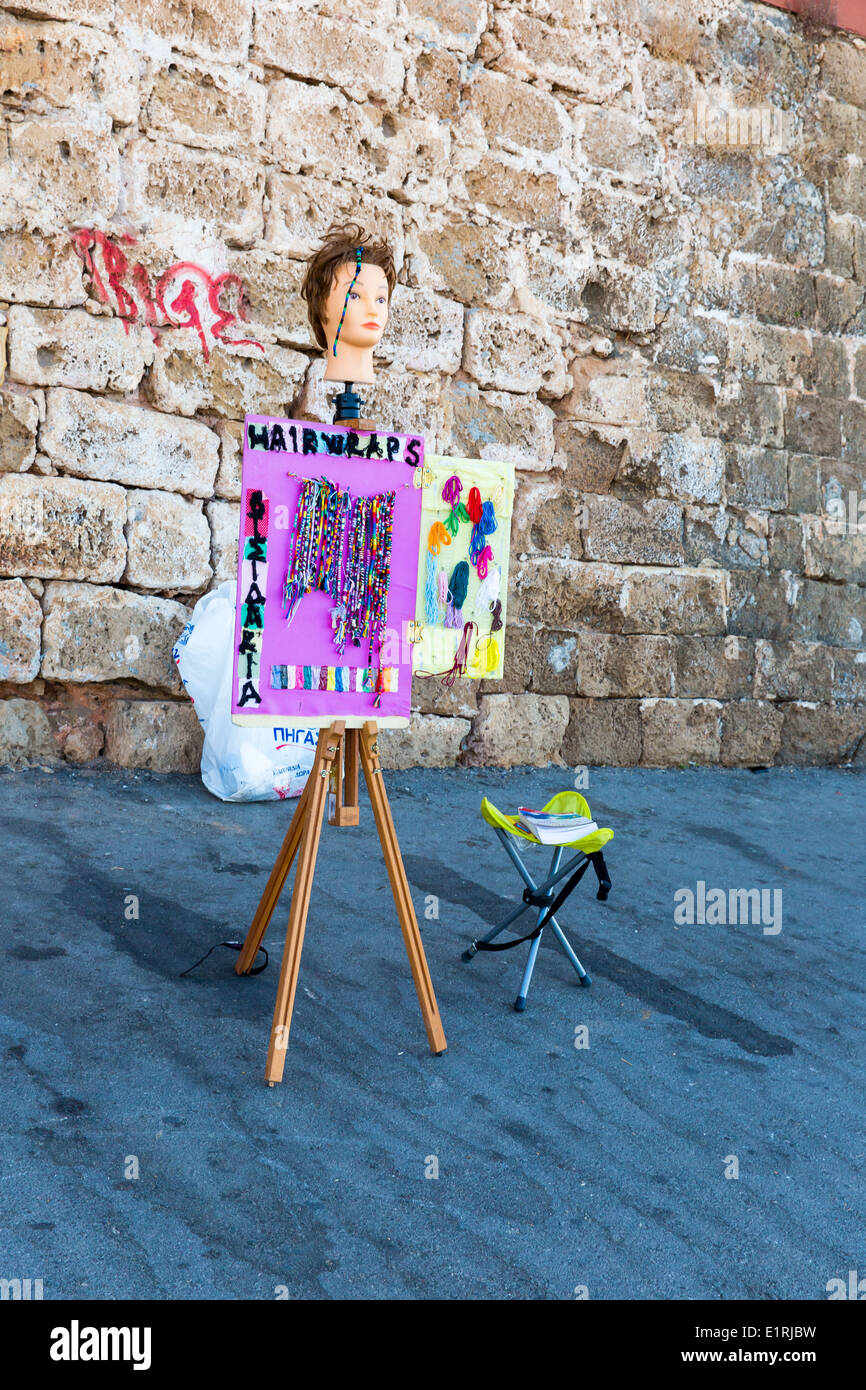
[[[328,228],[300,286],[316,342],[325,352],[325,381],[374,379],[373,349],[385,332],[395,285],[385,242],[371,240],[356,222]]]

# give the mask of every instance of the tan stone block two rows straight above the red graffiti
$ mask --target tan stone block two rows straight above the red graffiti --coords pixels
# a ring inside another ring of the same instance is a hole
[[[153,76],[142,124],[181,145],[252,153],[264,139],[267,96],[245,72],[174,53]]]

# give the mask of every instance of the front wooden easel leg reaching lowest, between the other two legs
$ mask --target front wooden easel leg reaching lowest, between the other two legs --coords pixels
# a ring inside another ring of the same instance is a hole
[[[335,758],[339,758],[341,753],[343,728],[342,720],[331,728],[322,728],[318,735],[313,771],[307,783],[310,795],[303,816],[303,833],[300,837],[295,887],[292,890],[286,944],[282,954],[271,1041],[264,1068],[264,1079],[270,1086],[274,1086],[275,1081],[282,1081],[285,1069],[285,1054],[289,1045],[289,1029],[292,1027],[292,1009],[295,1008],[295,990],[297,988],[297,973],[300,970],[300,952],[307,926],[307,910],[310,908],[310,890],[313,888],[316,855],[318,853],[325,796],[328,794],[328,777]]]

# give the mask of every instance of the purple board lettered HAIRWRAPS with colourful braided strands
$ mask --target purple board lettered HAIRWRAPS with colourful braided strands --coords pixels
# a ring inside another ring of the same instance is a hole
[[[246,417],[235,723],[409,723],[423,463],[423,435]],[[352,575],[375,595],[356,628]]]

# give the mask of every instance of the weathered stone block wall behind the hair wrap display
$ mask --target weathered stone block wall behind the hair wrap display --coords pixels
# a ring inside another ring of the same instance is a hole
[[[392,239],[368,413],[517,467],[506,678],[413,763],[862,760],[866,43],[749,0],[0,10],[0,763],[195,770],[171,660],[297,286]]]

